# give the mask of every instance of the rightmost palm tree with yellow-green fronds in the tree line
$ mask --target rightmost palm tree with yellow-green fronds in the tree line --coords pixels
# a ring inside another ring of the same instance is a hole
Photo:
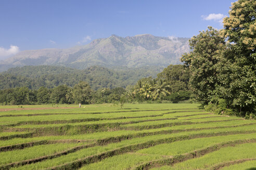
[[[171,94],[167,88],[170,88],[169,84],[162,79],[159,79],[157,83],[154,86],[154,91],[152,93],[153,98],[156,100],[159,98],[160,100],[164,97],[167,96],[167,94]]]

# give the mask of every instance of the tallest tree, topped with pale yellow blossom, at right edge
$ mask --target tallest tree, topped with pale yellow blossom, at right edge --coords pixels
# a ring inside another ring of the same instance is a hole
[[[256,1],[239,0],[232,4],[223,21],[223,34],[231,44],[220,68],[220,95],[241,116],[256,112]]]

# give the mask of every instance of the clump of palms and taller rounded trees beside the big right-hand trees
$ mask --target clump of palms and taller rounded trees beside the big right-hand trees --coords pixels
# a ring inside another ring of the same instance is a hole
[[[142,78],[130,88],[127,95],[131,101],[158,101],[164,99],[170,100],[170,95],[176,95],[175,103],[187,100],[189,97],[182,96],[179,91],[188,91],[188,73],[184,71],[182,65],[169,65],[163,69],[163,72],[157,75],[157,78]],[[186,92],[185,92],[186,93]],[[178,95],[178,96],[177,96]],[[189,95],[190,96],[190,95]],[[171,97],[172,98],[172,97]],[[174,98],[172,98],[174,100]]]

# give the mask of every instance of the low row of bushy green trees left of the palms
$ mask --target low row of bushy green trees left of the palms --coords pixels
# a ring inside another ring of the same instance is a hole
[[[124,93],[123,88],[103,88],[95,92],[87,82],[80,81],[73,88],[60,85],[53,89],[40,87],[39,90],[30,90],[24,87],[0,90],[0,103],[4,105],[113,103],[120,101]]]

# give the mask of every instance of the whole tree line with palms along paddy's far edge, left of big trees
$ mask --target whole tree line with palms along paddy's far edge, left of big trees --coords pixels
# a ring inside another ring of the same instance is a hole
[[[170,65],[164,68],[157,78],[142,78],[134,86],[128,86],[126,89],[118,87],[93,90],[85,81],[80,81],[73,87],[62,84],[55,88],[40,87],[37,90],[28,87],[11,88],[0,90],[0,103],[95,104],[162,100],[177,103],[190,98],[188,80],[182,65]]]

